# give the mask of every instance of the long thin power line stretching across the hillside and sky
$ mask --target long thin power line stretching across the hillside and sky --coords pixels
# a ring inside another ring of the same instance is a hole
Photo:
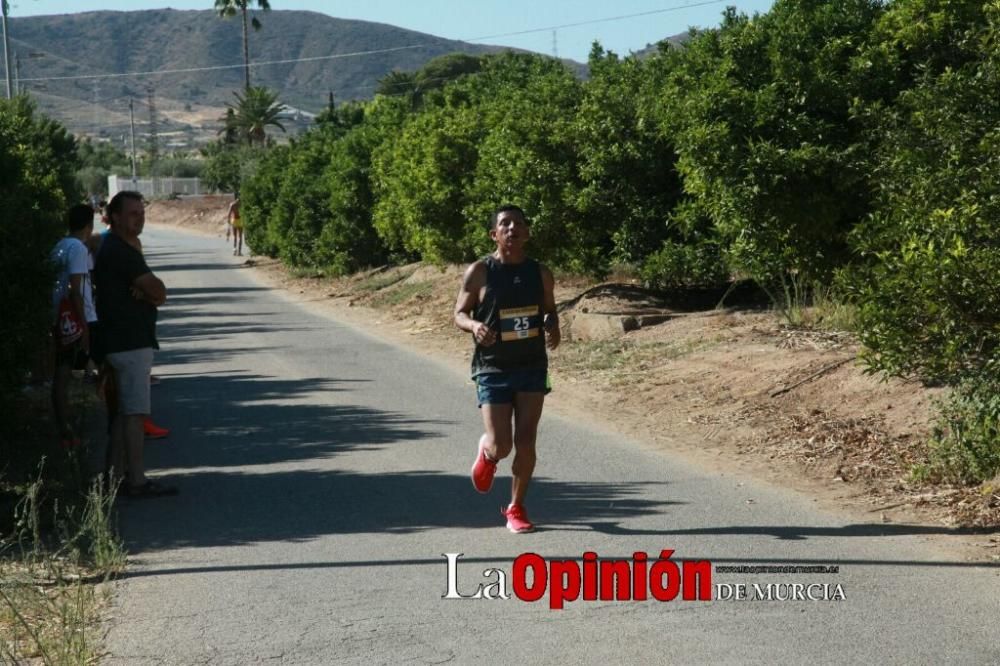
[[[672,6],[672,7],[664,7],[663,9],[654,9],[654,10],[651,10],[651,11],[639,12],[639,13],[636,13],[636,14],[622,14],[620,16],[609,16],[609,17],[606,17],[606,18],[592,19],[592,20],[589,20],[589,21],[578,21],[576,23],[565,23],[563,25],[549,26],[549,27],[546,27],[546,28],[532,28],[530,30],[518,30],[518,31],[515,31],[515,32],[498,33],[498,34],[495,34],[495,35],[485,35],[485,36],[481,36],[481,37],[470,37],[470,38],[459,39],[459,40],[455,40],[455,41],[480,42],[480,41],[485,41],[485,40],[488,40],[488,39],[499,39],[501,37],[516,37],[516,36],[519,36],[519,35],[528,35],[528,34],[537,33],[537,32],[552,32],[554,30],[564,30],[566,28],[578,28],[578,27],[585,26],[585,25],[596,25],[598,23],[611,23],[611,22],[614,22],[614,21],[623,21],[625,19],[630,19],[630,18],[640,18],[640,17],[644,17],[644,16],[652,16],[652,15],[655,15],[655,14],[665,14],[665,13],[668,13],[668,12],[676,12],[676,11],[681,11],[681,10],[684,10],[684,9],[694,9],[694,8],[697,8],[697,7],[705,7],[705,6],[708,6],[708,5],[719,5],[719,4],[722,4],[722,3],[726,2],[726,1],[727,0],[706,0],[705,2],[697,2],[697,3],[691,3],[691,4],[685,4],[685,5],[675,5],[675,6]],[[308,57],[303,57],[303,58],[286,58],[286,59],[283,59],[283,60],[265,60],[265,61],[260,61],[260,62],[251,62],[250,65],[252,67],[265,67],[265,66],[268,66],[268,65],[290,65],[290,64],[300,63],[300,62],[317,62],[317,61],[321,61],[321,60],[338,60],[338,59],[341,59],[341,58],[355,58],[355,57],[366,56],[366,55],[379,55],[379,54],[383,54],[383,53],[394,53],[394,52],[397,52],[397,51],[406,51],[406,50],[411,50],[411,49],[422,49],[422,48],[427,48],[427,47],[434,46],[434,45],[435,44],[432,44],[432,43],[428,42],[428,43],[425,43],[425,44],[411,44],[409,46],[395,46],[395,47],[392,47],[392,48],[374,49],[374,50],[371,50],[371,51],[355,51],[353,53],[334,53],[334,54],[325,55],[325,56],[308,56]],[[159,74],[191,74],[191,73],[194,73],[194,72],[209,72],[209,71],[218,71],[218,70],[223,70],[223,69],[239,69],[239,68],[242,68],[243,66],[244,66],[243,63],[237,64],[237,65],[208,65],[208,66],[205,66],[205,67],[184,67],[184,68],[177,68],[177,69],[158,69],[158,70],[149,70],[149,71],[144,71],[144,72],[124,72],[124,73],[118,73],[118,74],[79,74],[79,75],[76,75],[76,76],[45,76],[45,77],[34,77],[34,78],[23,79],[23,80],[24,81],[80,81],[80,80],[84,80],[84,79],[115,79],[115,78],[126,78],[126,77],[132,77],[132,76],[153,76],[153,75],[159,75]]]

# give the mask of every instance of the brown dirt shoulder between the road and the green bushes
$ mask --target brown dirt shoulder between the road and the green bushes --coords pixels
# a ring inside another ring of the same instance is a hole
[[[148,219],[220,233],[228,200],[214,216],[191,212],[201,204],[174,204],[152,205]],[[468,367],[468,337],[451,320],[461,267],[333,279],[296,277],[259,257],[245,265],[296,300]],[[556,410],[704,468],[797,489],[864,522],[1000,525],[995,488],[910,481],[937,394],[866,375],[850,335],[792,328],[770,311],[663,299],[636,285],[557,283],[565,335],[550,355]],[[978,556],[1000,559],[1000,539],[970,541]]]

